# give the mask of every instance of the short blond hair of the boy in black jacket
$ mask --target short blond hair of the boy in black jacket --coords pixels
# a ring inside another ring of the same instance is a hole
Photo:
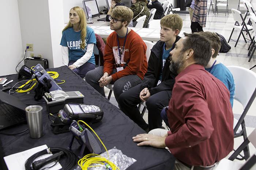
[[[162,17],[160,25],[171,28],[173,31],[178,29],[180,32],[182,28],[182,19],[177,14],[166,15]]]

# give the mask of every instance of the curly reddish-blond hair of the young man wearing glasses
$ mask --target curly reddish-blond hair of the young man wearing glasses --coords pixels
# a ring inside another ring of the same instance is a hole
[[[127,27],[132,20],[133,12],[128,7],[117,6],[113,9],[111,17],[120,19],[122,21],[127,21],[127,24],[125,25]]]

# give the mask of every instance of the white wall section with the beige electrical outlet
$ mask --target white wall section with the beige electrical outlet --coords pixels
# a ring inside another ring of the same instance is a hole
[[[22,47],[33,44],[34,51],[48,59],[49,67],[53,67],[52,40],[48,0],[18,0]]]

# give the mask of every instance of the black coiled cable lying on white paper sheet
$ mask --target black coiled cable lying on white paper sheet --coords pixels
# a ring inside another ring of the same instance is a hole
[[[42,150],[38,153],[35,153],[31,157],[29,157],[29,159],[27,159],[27,161],[25,162],[25,169],[33,170],[33,167],[31,166],[33,161],[36,158],[40,157],[41,155],[48,154],[47,150],[48,149]],[[65,148],[61,148],[61,147],[51,147],[51,148],[49,148],[49,150],[52,154],[63,151],[64,156],[61,159],[61,160],[64,160],[64,161],[61,161],[61,166],[62,166],[63,170],[71,170],[71,169],[74,169],[78,165],[77,164],[78,157],[72,151],[65,149]]]

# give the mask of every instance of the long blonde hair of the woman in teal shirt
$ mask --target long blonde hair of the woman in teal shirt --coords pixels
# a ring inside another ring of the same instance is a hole
[[[86,16],[85,16],[83,9],[80,7],[73,7],[71,9],[76,11],[76,13],[78,14],[78,16],[80,18],[79,28],[81,29],[81,40],[82,40],[80,48],[82,50],[84,50],[85,49],[85,37],[86,37]],[[71,9],[70,9],[70,11],[71,11]],[[68,29],[70,27],[73,27],[73,24],[71,24],[70,20],[69,20],[67,26],[62,30],[62,32],[65,31],[65,29]]]

